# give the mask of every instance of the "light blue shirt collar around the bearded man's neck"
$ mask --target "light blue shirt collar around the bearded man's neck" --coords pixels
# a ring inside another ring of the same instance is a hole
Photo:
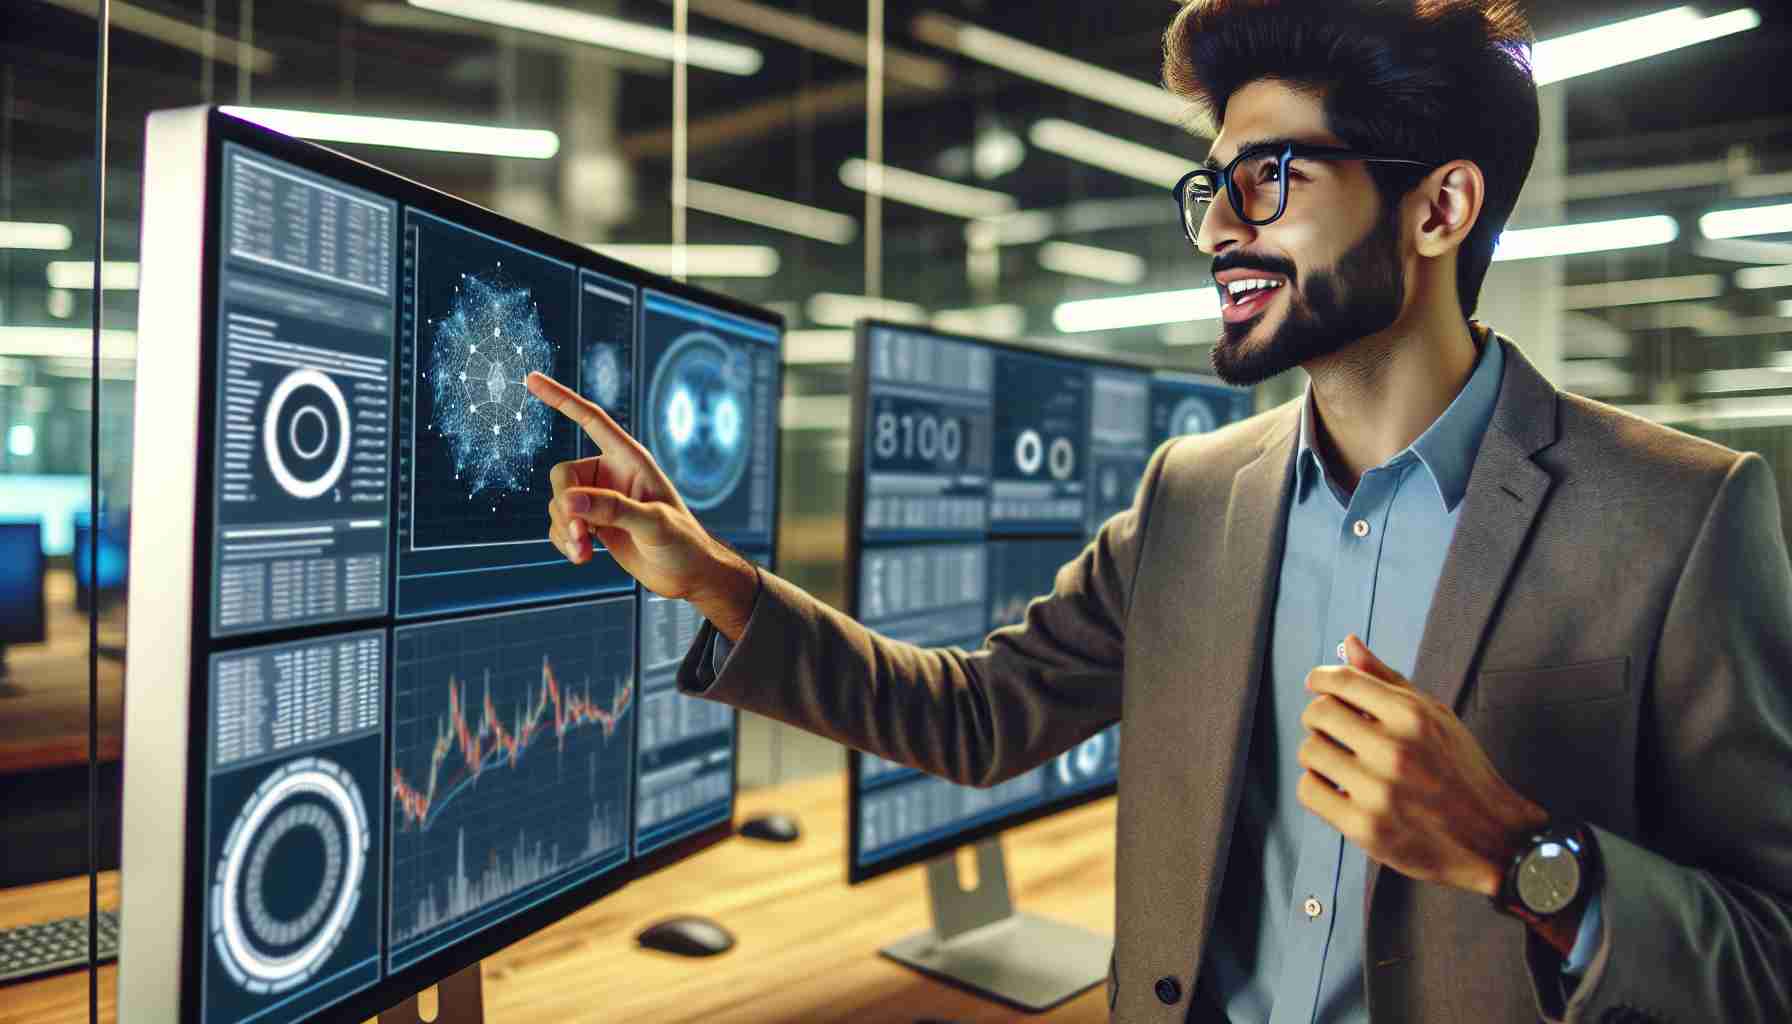
[[[1493,420],[1493,407],[1500,398],[1500,378],[1505,371],[1505,351],[1502,351],[1500,339],[1493,330],[1482,328],[1475,334],[1484,339],[1480,353],[1475,357],[1475,369],[1462,391],[1412,445],[1382,463],[1392,466],[1401,459],[1417,457],[1448,511],[1455,511],[1468,491],[1468,475],[1475,468],[1475,456],[1480,454],[1480,439],[1487,432],[1487,421]],[[1322,479],[1322,459],[1314,443],[1314,386],[1308,384],[1306,398],[1301,402],[1301,447],[1294,457],[1296,497],[1305,499],[1308,488]]]

